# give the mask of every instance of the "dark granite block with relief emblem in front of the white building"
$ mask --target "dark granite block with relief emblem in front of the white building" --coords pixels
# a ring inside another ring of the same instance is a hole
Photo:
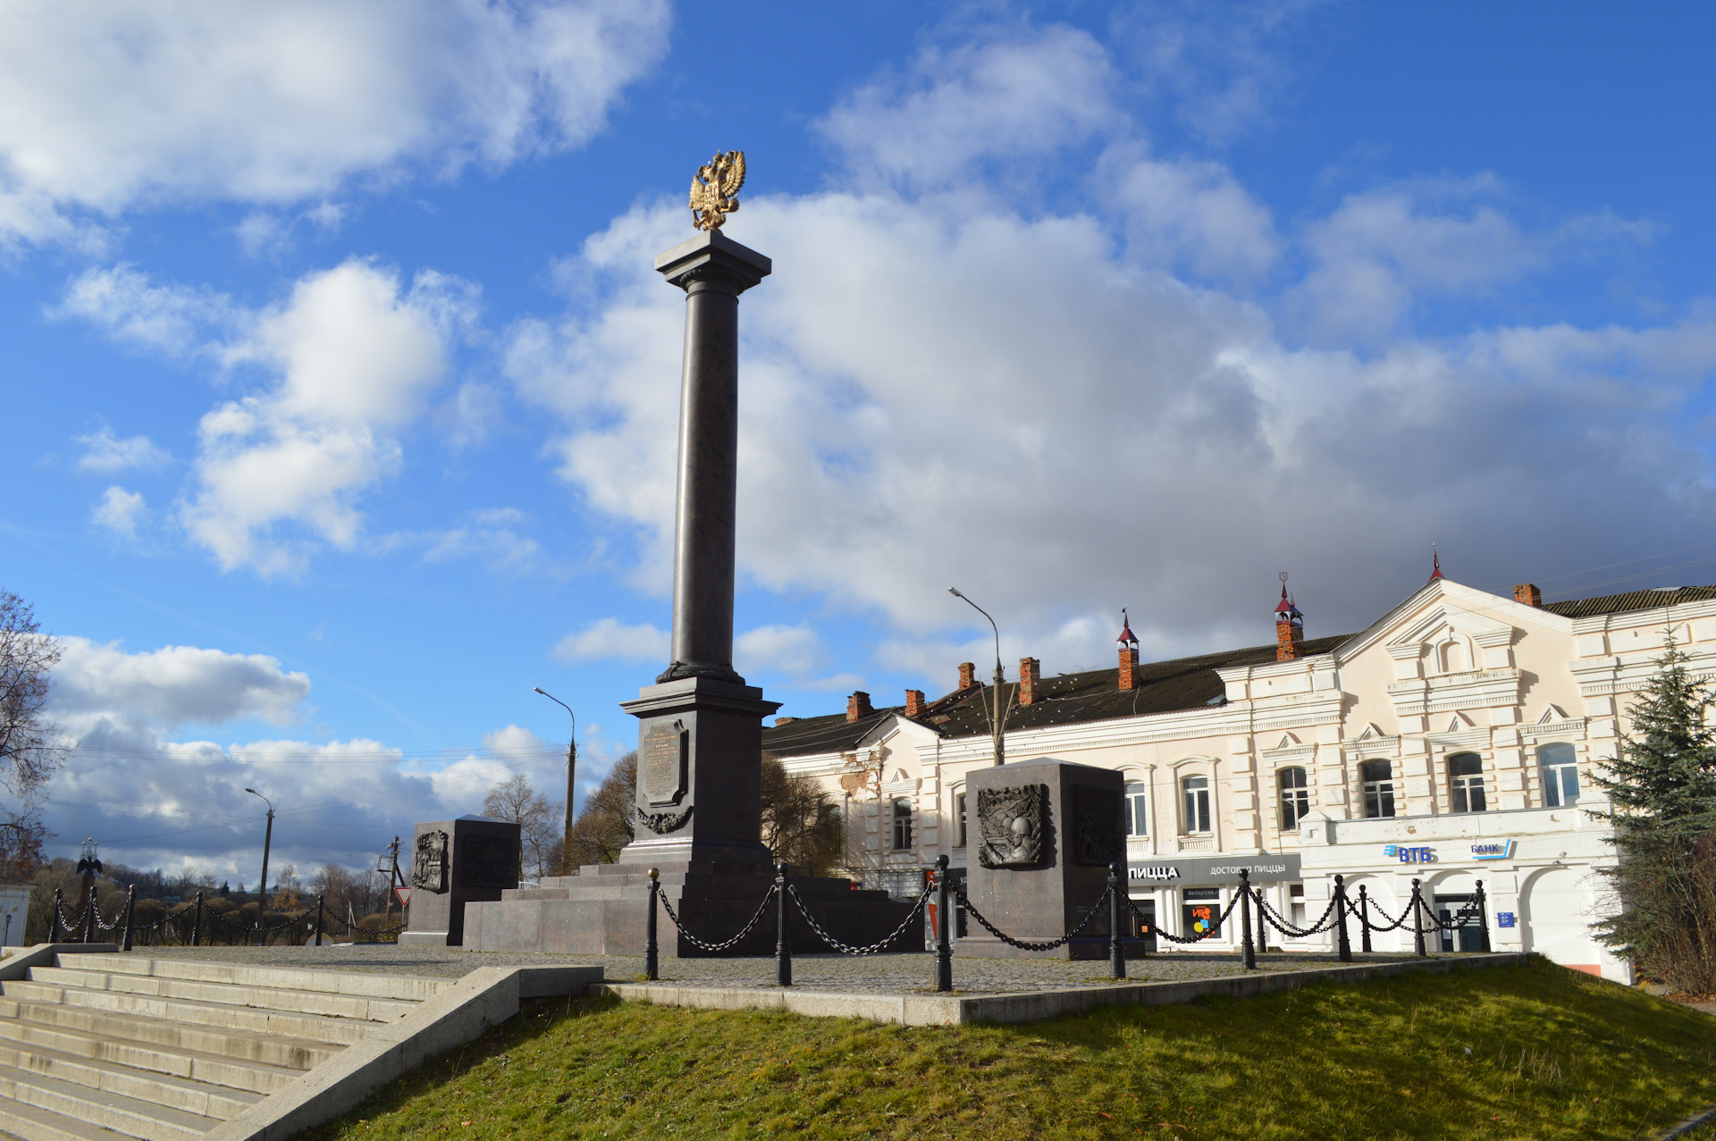
[[[1126,865],[1124,782],[1114,769],[1050,758],[971,770],[966,812],[976,858],[966,868],[966,899],[1023,942],[1054,942],[1078,927],[1102,901],[1109,865]],[[975,920],[966,930],[954,942],[958,956],[1109,957],[1107,906],[1055,951],[1014,947]],[[1143,951],[1143,940],[1127,940],[1127,957]]]

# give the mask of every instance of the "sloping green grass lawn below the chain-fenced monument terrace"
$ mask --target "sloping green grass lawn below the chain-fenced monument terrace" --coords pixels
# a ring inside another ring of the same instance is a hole
[[[307,1136],[1592,1141],[1711,1103],[1716,1017],[1536,961],[1014,1028],[546,1000]]]

